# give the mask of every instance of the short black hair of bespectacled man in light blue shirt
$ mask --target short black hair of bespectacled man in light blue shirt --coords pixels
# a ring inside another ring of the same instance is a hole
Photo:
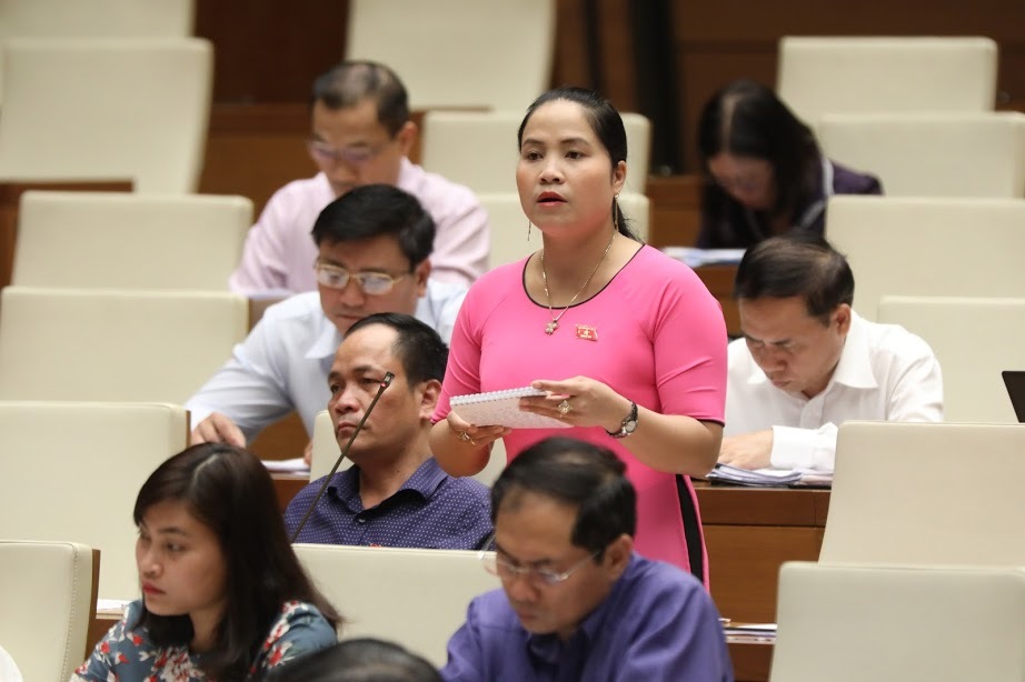
[[[435,221],[417,198],[390,184],[356,187],[327,204],[311,231],[314,241],[346,243],[395,237],[412,271],[435,245]]]

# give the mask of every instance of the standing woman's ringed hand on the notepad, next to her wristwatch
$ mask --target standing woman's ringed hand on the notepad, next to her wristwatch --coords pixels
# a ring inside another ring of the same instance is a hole
[[[630,412],[629,399],[588,377],[563,381],[539,379],[530,385],[547,391],[548,395],[520,398],[521,410],[574,427],[601,427],[606,431],[618,431],[623,419]]]

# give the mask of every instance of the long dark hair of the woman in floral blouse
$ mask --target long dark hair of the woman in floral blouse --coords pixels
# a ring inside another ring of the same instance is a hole
[[[338,625],[338,613],[314,588],[288,543],[273,481],[255,454],[223,443],[179,452],[139,490],[136,525],[150,508],[167,501],[183,503],[217,535],[227,562],[227,605],[217,644],[202,660],[208,674],[245,678],[285,602],[309,602]],[[187,645],[193,634],[188,615],[157,615],[145,605],[139,625],[159,646]]]

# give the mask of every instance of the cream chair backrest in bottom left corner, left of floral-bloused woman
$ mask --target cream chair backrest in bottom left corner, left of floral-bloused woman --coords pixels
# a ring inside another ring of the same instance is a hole
[[[77,542],[0,540],[0,642],[24,680],[64,682],[84,660],[98,564]]]

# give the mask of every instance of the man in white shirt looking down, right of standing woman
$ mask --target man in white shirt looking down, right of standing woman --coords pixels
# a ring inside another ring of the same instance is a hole
[[[854,275],[822,238],[747,250],[735,295],[719,462],[833,471],[845,420],[943,421],[939,362],[920,338],[850,308]]]

